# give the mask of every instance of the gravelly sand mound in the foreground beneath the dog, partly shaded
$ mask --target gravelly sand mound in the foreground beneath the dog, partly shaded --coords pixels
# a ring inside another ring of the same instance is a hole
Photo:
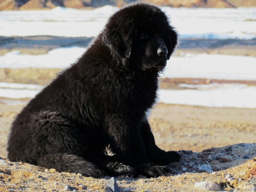
[[[169,164],[172,174],[159,178],[117,177],[122,191],[204,191],[196,182],[212,181],[221,190],[244,188],[255,191],[256,144],[235,144],[196,153],[182,150],[182,160]],[[79,191],[104,192],[110,178],[94,179],[81,174],[56,172],[22,162],[0,160],[0,191]],[[67,187],[68,185],[68,187]]]

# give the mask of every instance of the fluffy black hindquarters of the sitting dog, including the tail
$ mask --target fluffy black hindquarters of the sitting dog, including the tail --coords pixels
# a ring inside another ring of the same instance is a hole
[[[42,111],[29,119],[18,116],[13,124],[8,158],[63,172],[100,177],[104,171],[93,163],[86,137],[71,120],[56,112]]]

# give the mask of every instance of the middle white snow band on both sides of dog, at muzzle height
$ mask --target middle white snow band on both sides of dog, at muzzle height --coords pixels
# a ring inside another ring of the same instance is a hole
[[[66,68],[82,56],[86,48],[66,47],[47,54],[26,55],[18,51],[0,56],[0,68]],[[56,58],[62,60],[56,63]],[[168,60],[161,75],[168,78],[209,78],[256,80],[256,57],[218,54],[185,54]]]

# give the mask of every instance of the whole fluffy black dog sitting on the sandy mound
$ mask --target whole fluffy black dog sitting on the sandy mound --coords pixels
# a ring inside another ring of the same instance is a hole
[[[161,165],[180,156],[156,146],[146,111],[176,44],[159,8],[139,3],[116,12],[78,62],[18,114],[8,158],[92,177],[166,174]]]

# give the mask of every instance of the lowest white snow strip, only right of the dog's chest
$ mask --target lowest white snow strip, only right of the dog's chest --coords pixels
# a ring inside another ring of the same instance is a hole
[[[256,108],[256,87],[244,84],[186,85],[198,90],[158,91],[158,101],[208,107]]]

